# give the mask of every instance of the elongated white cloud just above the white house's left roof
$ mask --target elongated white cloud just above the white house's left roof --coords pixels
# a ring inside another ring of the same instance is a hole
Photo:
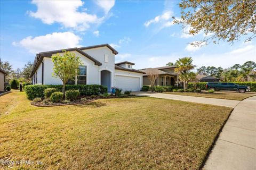
[[[30,53],[35,54],[49,50],[81,47],[79,45],[80,40],[81,38],[73,32],[53,32],[45,36],[28,36],[19,41],[19,43],[13,42],[12,44],[25,47]]]

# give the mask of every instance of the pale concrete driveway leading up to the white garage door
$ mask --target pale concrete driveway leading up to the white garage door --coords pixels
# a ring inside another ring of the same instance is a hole
[[[171,94],[162,94],[162,93],[155,93],[155,92],[153,93],[153,92],[145,92],[145,91],[136,91],[136,92],[133,92],[132,94],[137,95],[137,96],[149,96],[149,97],[172,99],[172,100],[190,101],[190,102],[194,102],[194,103],[226,106],[226,107],[232,107],[232,108],[234,108],[239,103],[238,100],[171,95]]]

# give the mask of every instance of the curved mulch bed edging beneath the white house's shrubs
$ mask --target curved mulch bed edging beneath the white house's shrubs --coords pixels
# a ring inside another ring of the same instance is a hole
[[[98,100],[98,99],[131,98],[131,97],[136,97],[136,96],[135,95],[119,96],[119,97],[117,97],[117,96],[108,96],[108,97],[97,96],[95,98],[88,97],[86,101],[82,101],[81,99],[77,99],[75,101],[70,101],[70,103],[48,103],[48,104],[44,104],[43,101],[41,101],[41,102],[37,102],[37,103],[31,102],[30,104],[33,105],[33,106],[38,106],[38,107],[52,107],[52,106],[66,106],[66,105],[85,104],[85,103],[89,103],[91,101]]]

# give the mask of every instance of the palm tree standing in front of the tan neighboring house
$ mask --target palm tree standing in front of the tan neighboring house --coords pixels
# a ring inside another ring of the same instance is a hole
[[[179,60],[176,61],[176,65],[178,66],[175,68],[175,72],[180,73],[181,81],[183,82],[184,90],[188,88],[188,81],[189,81],[189,75],[188,74],[190,70],[194,69],[196,66],[192,64],[193,60],[191,57],[183,57],[179,58]]]

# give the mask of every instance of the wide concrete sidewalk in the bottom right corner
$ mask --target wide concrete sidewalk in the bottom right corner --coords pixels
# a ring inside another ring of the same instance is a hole
[[[203,169],[256,169],[256,96],[234,108]]]

